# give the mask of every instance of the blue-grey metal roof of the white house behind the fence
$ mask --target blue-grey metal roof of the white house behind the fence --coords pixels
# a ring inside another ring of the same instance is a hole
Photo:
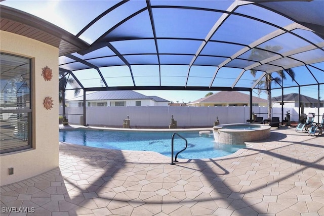
[[[154,100],[156,102],[169,102],[166,99],[157,96],[145,96],[143,94],[127,91],[100,91],[87,94],[87,101],[100,100]],[[83,101],[83,96],[78,96],[67,101]]]

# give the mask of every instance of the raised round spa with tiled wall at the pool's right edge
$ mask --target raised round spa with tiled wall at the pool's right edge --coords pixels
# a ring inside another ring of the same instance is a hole
[[[270,137],[271,126],[265,124],[220,124],[214,126],[214,139],[223,144],[244,144]]]

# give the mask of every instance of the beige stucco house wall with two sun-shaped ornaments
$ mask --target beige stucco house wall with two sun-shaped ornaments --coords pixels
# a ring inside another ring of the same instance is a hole
[[[29,150],[0,155],[0,185],[18,182],[51,170],[59,164],[58,130],[58,49],[24,36],[0,31],[1,52],[32,59],[32,142]],[[52,69],[53,78],[45,81],[42,68]],[[52,97],[53,108],[44,107]],[[14,175],[8,168],[14,167]]]

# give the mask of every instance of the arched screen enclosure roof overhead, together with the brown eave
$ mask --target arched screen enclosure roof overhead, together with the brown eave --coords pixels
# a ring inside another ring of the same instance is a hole
[[[324,83],[324,1],[23,3],[1,2],[1,29],[58,47],[87,91],[251,90],[290,68],[277,87]]]

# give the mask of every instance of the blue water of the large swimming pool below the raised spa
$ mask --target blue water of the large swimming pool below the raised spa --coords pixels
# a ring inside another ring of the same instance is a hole
[[[94,129],[75,129],[60,131],[60,142],[84,146],[136,151],[155,151],[171,157],[171,139],[174,132],[130,132]],[[188,147],[178,158],[203,159],[222,157],[244,148],[244,145],[215,143],[210,137],[199,136],[198,131],[177,132],[187,139]],[[174,154],[185,147],[185,141],[178,136],[174,139]]]

